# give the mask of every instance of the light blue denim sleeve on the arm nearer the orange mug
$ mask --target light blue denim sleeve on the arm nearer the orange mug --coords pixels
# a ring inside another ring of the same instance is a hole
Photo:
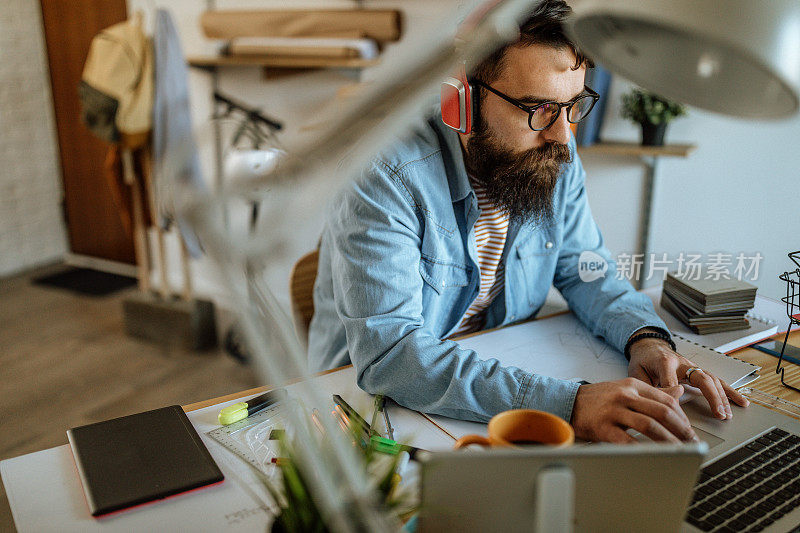
[[[569,420],[577,383],[503,367],[425,328],[424,223],[402,176],[380,162],[336,201],[326,230],[333,294],[358,385],[411,409],[464,420],[521,407]]]

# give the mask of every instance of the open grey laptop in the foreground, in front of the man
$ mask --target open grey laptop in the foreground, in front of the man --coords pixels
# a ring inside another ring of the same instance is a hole
[[[732,405],[733,419],[717,420],[700,396],[683,409],[703,441],[699,448],[593,444],[432,454],[422,466],[420,530],[535,530],[538,477],[553,465],[574,467],[575,531],[797,528],[800,421],[755,403]]]

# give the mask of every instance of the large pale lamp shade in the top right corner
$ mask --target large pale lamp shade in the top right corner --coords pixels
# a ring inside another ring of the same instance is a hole
[[[797,0],[580,0],[587,55],[662,96],[742,118],[800,109]]]

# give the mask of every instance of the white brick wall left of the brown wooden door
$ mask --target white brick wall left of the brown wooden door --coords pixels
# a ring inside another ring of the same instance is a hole
[[[67,251],[39,2],[0,4],[0,276]]]

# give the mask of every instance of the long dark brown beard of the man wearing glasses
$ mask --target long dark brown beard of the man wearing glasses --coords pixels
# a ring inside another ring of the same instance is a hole
[[[552,220],[561,166],[571,161],[569,147],[560,143],[512,152],[485,125],[470,137],[464,155],[467,172],[486,189],[489,200],[521,223]]]

